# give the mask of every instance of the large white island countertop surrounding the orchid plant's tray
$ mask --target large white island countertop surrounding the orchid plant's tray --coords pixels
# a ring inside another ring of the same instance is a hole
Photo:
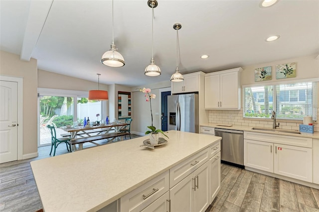
[[[44,211],[97,211],[220,139],[180,131],[167,136],[155,149],[140,147],[146,136],[32,161]]]

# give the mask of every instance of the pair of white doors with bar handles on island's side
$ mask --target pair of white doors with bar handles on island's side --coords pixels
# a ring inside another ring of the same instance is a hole
[[[204,212],[210,205],[209,162],[169,190],[171,212]]]

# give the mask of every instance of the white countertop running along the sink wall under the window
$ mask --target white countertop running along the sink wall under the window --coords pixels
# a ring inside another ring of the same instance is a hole
[[[220,126],[217,123],[202,123],[202,124],[200,124],[200,126],[203,126],[203,127],[214,127],[214,128],[220,128],[220,129],[229,129],[229,130],[242,130],[242,131],[249,131],[249,132],[268,133],[268,134],[277,134],[277,135],[289,135],[289,136],[297,136],[297,137],[307,137],[307,138],[319,139],[319,132],[315,132],[315,133],[303,133],[303,132],[301,132],[301,134],[284,133],[284,132],[271,132],[271,131],[263,131],[263,130],[252,130],[252,128],[253,128],[252,126],[233,125],[231,127],[228,127],[228,126]]]

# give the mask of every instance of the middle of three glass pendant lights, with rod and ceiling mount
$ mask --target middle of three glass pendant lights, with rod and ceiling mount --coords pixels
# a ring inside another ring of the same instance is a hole
[[[144,74],[147,76],[159,76],[161,74],[160,67],[154,63],[153,52],[153,20],[154,20],[154,8],[158,6],[157,0],[148,0],[149,7],[152,7],[152,59],[151,64],[145,68]]]

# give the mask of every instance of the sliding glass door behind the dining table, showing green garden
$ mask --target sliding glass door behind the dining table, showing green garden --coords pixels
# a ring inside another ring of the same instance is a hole
[[[88,92],[38,88],[38,93],[38,146],[51,145],[49,124],[62,137],[67,134],[62,127],[75,122],[81,126],[88,117],[101,121],[107,114],[107,101],[89,100]]]

